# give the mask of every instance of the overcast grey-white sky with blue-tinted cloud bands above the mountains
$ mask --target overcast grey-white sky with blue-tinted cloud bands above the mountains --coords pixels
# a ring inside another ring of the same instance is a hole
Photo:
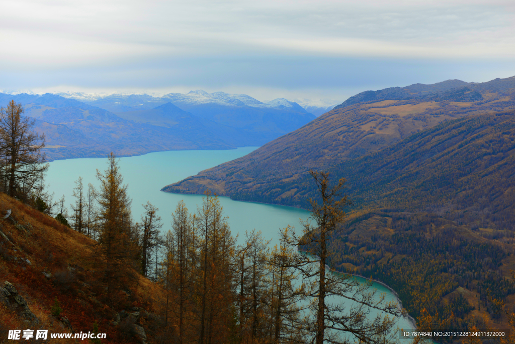
[[[0,0],[0,89],[364,90],[515,75],[510,1]]]

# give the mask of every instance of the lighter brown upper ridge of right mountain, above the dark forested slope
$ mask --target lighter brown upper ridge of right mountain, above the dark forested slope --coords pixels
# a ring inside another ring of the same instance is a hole
[[[336,107],[244,157],[165,186],[163,191],[201,194],[210,189],[231,197],[253,193],[255,201],[294,205],[289,200],[305,198],[304,190],[283,186],[303,178],[310,169],[338,166],[445,121],[515,109],[515,77],[483,84],[445,83],[446,87],[417,84],[382,90],[379,101],[378,96],[372,101],[364,96],[364,102]],[[397,89],[404,93],[399,95]],[[273,199],[263,196],[271,191],[277,194]]]

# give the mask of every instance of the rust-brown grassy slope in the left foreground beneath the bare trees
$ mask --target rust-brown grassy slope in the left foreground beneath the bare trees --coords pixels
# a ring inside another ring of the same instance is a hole
[[[8,209],[11,215],[2,219]],[[91,239],[3,193],[0,215],[0,343],[7,342],[8,331],[16,329],[49,330],[47,342],[71,342],[74,339],[50,339],[50,333],[93,332],[95,321],[99,332],[107,333],[102,343],[139,342],[135,327],[123,326],[123,316],[119,325],[113,322],[123,309],[139,312],[133,320],[148,339],[155,335],[156,299],[162,291],[154,283],[138,274],[125,290],[115,292],[111,308],[106,305],[100,274],[89,263]],[[27,302],[37,320],[14,312],[12,301],[11,307],[2,302],[6,282]],[[62,308],[59,317],[52,315],[56,298]]]

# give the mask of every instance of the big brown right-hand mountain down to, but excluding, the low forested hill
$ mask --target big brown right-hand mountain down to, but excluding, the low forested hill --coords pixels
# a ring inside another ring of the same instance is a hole
[[[309,208],[316,192],[307,172],[327,170],[333,181],[347,178],[354,209],[458,211],[515,228],[514,152],[515,77],[448,80],[359,93],[244,157],[163,190],[210,189]]]

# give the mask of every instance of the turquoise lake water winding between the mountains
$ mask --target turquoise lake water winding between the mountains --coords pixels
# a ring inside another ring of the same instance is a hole
[[[171,228],[171,213],[175,211],[177,203],[184,200],[190,212],[194,212],[197,205],[202,203],[202,196],[162,192],[160,191],[162,187],[222,162],[244,156],[257,148],[245,147],[227,151],[168,151],[120,158],[119,166],[124,184],[128,184],[128,193],[133,200],[134,220],[139,221],[143,214],[142,204],[150,201],[159,208],[159,216],[164,224],[163,231],[168,231]],[[96,169],[103,172],[107,168],[106,162],[107,158],[52,161],[45,178],[48,190],[50,193],[55,193],[54,200],[64,194],[66,206],[70,208],[70,204],[75,202],[72,196],[75,181],[81,176],[85,189],[88,183],[97,187]],[[272,240],[271,245],[277,242],[279,228],[291,225],[300,232],[299,219],[306,219],[309,215],[309,212],[303,209],[239,202],[227,197],[220,197],[220,204],[224,207],[233,235],[239,234],[242,238],[245,231],[256,228],[263,232],[264,238]],[[396,296],[382,284],[374,283],[372,288],[377,289],[378,293],[386,293],[388,301],[397,300]],[[402,329],[414,327],[407,318],[399,319],[398,325]]]

